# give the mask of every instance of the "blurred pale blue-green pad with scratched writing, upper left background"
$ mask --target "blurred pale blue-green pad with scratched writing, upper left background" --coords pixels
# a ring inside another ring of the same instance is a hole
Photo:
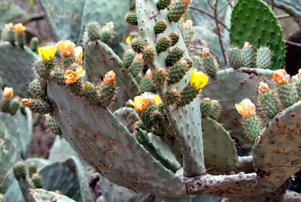
[[[40,0],[54,39],[71,39],[76,43],[80,33],[85,0]],[[77,43],[80,46],[80,43]]]

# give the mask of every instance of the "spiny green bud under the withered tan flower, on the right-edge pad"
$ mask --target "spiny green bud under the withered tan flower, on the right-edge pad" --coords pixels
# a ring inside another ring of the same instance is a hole
[[[280,108],[273,91],[269,91],[260,95],[259,101],[263,112],[269,119],[275,117],[275,115],[279,113]]]

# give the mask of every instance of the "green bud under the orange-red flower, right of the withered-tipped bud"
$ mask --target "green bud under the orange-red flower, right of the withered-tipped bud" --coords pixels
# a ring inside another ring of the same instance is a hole
[[[289,107],[296,102],[292,84],[279,85],[277,87],[279,99],[284,107]]]

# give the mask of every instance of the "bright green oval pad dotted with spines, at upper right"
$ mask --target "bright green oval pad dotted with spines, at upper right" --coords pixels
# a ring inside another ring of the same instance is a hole
[[[271,69],[284,68],[285,46],[280,24],[273,11],[261,0],[239,0],[231,14],[230,44],[269,46],[274,54]]]

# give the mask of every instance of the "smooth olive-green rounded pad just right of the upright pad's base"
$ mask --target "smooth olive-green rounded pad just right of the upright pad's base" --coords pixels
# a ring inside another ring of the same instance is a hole
[[[202,118],[204,163],[208,172],[231,171],[239,166],[237,151],[230,134],[216,120]]]

